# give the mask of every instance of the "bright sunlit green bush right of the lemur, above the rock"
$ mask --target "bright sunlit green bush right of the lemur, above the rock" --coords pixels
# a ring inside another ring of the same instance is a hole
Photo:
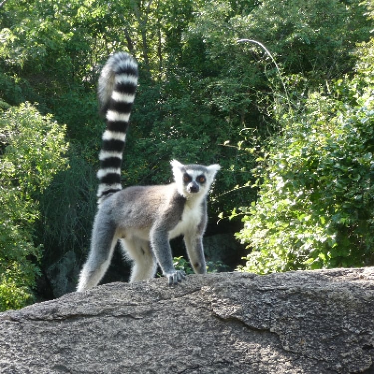
[[[285,115],[258,159],[258,200],[237,234],[252,252],[240,270],[374,264],[373,40],[359,53],[357,74]]]

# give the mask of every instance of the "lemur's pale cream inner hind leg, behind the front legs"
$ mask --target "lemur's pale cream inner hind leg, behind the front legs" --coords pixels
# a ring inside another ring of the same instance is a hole
[[[157,262],[148,240],[121,239],[121,247],[125,256],[133,261],[130,283],[150,279],[156,275]]]

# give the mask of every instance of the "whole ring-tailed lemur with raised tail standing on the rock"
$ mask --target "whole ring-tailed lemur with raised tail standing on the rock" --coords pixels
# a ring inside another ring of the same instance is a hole
[[[206,272],[202,248],[206,195],[219,165],[182,165],[173,160],[174,183],[121,187],[122,152],[137,81],[137,62],[124,52],[108,59],[99,78],[98,97],[107,122],[99,156],[99,209],[77,291],[100,282],[119,239],[133,260],[130,282],[154,277],[157,263],[169,284],[180,282],[185,274],[173,265],[169,240],[181,234],[193,270]]]

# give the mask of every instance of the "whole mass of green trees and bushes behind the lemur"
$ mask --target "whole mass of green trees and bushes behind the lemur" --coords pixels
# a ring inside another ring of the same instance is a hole
[[[140,63],[125,186],[168,183],[173,158],[219,163],[207,234],[237,232],[241,270],[373,265],[372,6],[0,1],[0,309],[32,302],[62,255],[86,256],[96,85],[118,50]]]

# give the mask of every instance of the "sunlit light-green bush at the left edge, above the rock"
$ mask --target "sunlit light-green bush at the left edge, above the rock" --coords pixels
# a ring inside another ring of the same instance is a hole
[[[22,104],[0,112],[0,310],[32,301],[41,246],[38,199],[66,165],[64,126]]]

